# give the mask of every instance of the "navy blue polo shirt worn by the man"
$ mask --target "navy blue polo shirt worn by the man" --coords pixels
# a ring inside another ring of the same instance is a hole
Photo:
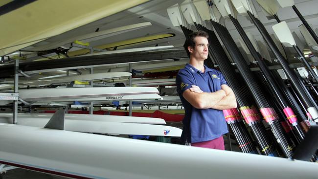
[[[185,115],[183,118],[183,143],[213,140],[228,133],[223,111],[215,109],[196,109],[184,99],[183,92],[192,85],[200,87],[204,92],[221,90],[227,81],[218,70],[204,66],[204,73],[190,64],[186,64],[176,77],[177,91],[182,101]]]

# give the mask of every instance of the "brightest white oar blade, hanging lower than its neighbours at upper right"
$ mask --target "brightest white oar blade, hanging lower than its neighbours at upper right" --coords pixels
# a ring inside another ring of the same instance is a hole
[[[281,43],[296,45],[292,32],[285,21],[273,25],[272,28]]]

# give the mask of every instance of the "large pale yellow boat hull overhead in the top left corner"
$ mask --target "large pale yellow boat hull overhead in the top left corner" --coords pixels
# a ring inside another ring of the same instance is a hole
[[[0,16],[0,22],[6,24],[5,29],[0,29],[0,56],[113,15],[145,1],[147,0],[129,2],[126,0],[97,0],[95,1],[98,4],[96,6],[86,0],[68,0],[63,5],[56,1],[35,0]],[[59,8],[54,8],[56,6]]]

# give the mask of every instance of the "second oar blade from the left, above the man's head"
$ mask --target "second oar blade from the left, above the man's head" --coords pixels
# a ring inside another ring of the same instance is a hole
[[[194,22],[202,24],[201,18],[191,0],[184,0],[180,4],[180,8],[186,22],[189,24],[193,24]]]

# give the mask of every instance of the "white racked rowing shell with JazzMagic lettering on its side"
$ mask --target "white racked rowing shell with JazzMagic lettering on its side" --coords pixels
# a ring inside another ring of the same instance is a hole
[[[159,91],[152,87],[96,87],[64,89],[20,90],[20,98],[25,101],[118,101],[134,99],[160,99]]]

